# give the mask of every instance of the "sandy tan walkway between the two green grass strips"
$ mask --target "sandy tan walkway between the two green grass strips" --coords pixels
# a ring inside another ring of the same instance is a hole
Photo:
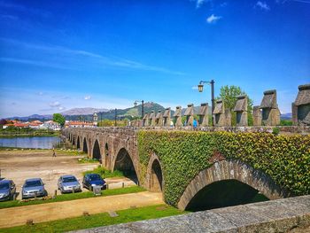
[[[141,207],[163,203],[161,193],[143,191],[34,206],[12,207],[0,209],[0,228],[24,225],[28,219],[37,223],[81,216],[84,211],[89,212],[89,214],[98,214],[128,209],[130,206]]]

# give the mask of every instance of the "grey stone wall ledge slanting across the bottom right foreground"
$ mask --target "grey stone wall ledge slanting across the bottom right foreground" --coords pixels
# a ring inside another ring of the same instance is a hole
[[[231,206],[156,220],[136,221],[87,232],[309,232],[310,196]],[[297,231],[298,230],[298,231]]]

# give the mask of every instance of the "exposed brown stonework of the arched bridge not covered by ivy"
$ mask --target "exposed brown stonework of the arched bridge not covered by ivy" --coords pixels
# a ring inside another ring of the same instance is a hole
[[[166,173],[157,154],[152,153],[146,171],[141,166],[137,140],[139,130],[140,128],[66,128],[63,135],[75,148],[86,152],[89,158],[98,159],[103,167],[122,170],[147,190],[163,191],[166,189]],[[205,187],[228,180],[259,190],[268,199],[285,198],[289,195],[268,175],[241,161],[224,159],[215,161],[213,166],[200,171],[189,181],[175,206],[181,209],[195,207],[197,203],[194,200],[201,193],[207,192]]]

